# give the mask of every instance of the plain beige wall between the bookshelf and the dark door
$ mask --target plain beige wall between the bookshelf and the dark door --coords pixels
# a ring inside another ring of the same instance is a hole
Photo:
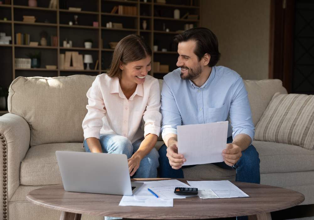
[[[246,80],[268,79],[270,0],[202,0],[201,19],[218,38],[217,65]]]

